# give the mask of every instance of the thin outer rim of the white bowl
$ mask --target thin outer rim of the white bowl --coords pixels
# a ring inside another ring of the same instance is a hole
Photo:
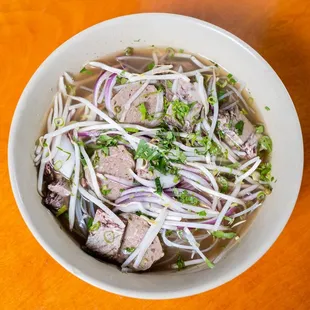
[[[109,24],[109,23],[113,23],[117,20],[126,20],[126,19],[130,19],[130,18],[143,18],[143,17],[148,17],[148,16],[154,16],[154,17],[168,17],[168,18],[179,18],[179,19],[183,19],[184,22],[190,22],[190,23],[195,23],[198,24],[200,26],[203,27],[207,27],[207,28],[211,28],[212,30],[216,31],[217,33],[220,33],[221,35],[227,36],[229,39],[233,40],[236,44],[242,46],[244,49],[247,50],[248,53],[252,54],[252,56],[254,56],[255,58],[258,59],[258,61],[260,61],[261,63],[263,63],[268,70],[274,75],[274,78],[277,80],[277,82],[279,83],[279,85],[282,87],[283,89],[283,93],[287,96],[288,101],[290,101],[290,104],[292,106],[292,110],[295,113],[295,119],[297,121],[297,126],[296,126],[296,138],[297,140],[300,142],[299,143],[299,149],[298,152],[300,152],[300,158],[301,158],[301,162],[298,163],[298,167],[299,170],[296,171],[296,173],[298,174],[298,184],[297,184],[297,190],[295,191],[294,196],[292,194],[292,203],[291,203],[291,207],[290,210],[287,212],[286,217],[282,218],[283,221],[283,225],[282,227],[278,228],[277,231],[274,231],[272,236],[269,237],[268,240],[266,240],[261,246],[260,248],[257,250],[256,254],[253,255],[251,257],[250,260],[245,261],[242,265],[240,264],[239,266],[237,266],[232,272],[229,273],[228,276],[226,276],[224,279],[222,279],[219,283],[219,281],[213,281],[213,284],[206,284],[206,285],[200,285],[200,286],[196,286],[193,288],[188,288],[188,289],[183,289],[180,291],[176,291],[176,292],[166,292],[165,294],[162,294],[161,292],[135,292],[132,291],[130,289],[122,289],[119,287],[116,287],[114,285],[110,285],[108,282],[104,282],[104,281],[97,281],[96,279],[84,274],[83,272],[78,272],[75,273],[73,271],[73,269],[70,267],[70,265],[67,263],[67,261],[65,259],[63,259],[61,257],[61,255],[59,255],[57,253],[57,251],[55,251],[53,248],[51,248],[44,240],[44,238],[41,236],[42,233],[40,233],[34,226],[32,226],[31,224],[31,220],[30,220],[30,215],[25,207],[25,205],[22,202],[21,196],[20,196],[20,192],[19,192],[19,188],[18,188],[18,184],[17,184],[17,178],[16,178],[16,168],[14,166],[14,161],[13,161],[13,157],[14,157],[14,140],[16,138],[17,135],[17,125],[19,122],[19,119],[21,117],[23,108],[27,105],[27,102],[25,101],[25,97],[27,95],[27,93],[29,92],[30,89],[30,85],[32,83],[34,83],[34,78],[36,75],[38,75],[41,71],[44,70],[44,66],[47,62],[52,61],[53,58],[58,54],[61,53],[62,50],[64,50],[71,41],[76,40],[78,37],[87,34],[89,31],[93,30],[94,28],[99,28],[102,26],[102,24]],[[71,274],[77,276],[78,278],[80,278],[81,280],[95,286],[98,287],[100,289],[103,289],[105,291],[108,291],[110,293],[114,293],[114,294],[119,294],[119,295],[123,295],[126,297],[134,297],[134,298],[139,298],[139,299],[170,299],[170,298],[181,298],[181,297],[187,297],[187,296],[192,296],[192,295],[196,295],[202,292],[205,292],[207,290],[210,289],[214,289],[222,284],[225,284],[229,281],[231,281],[232,279],[234,279],[235,277],[237,277],[238,275],[240,275],[241,273],[243,273],[244,271],[246,271],[248,268],[250,268],[251,266],[253,266],[269,249],[270,247],[273,245],[273,243],[276,241],[276,239],[279,237],[279,235],[281,234],[281,232],[283,231],[284,227],[286,226],[291,213],[295,207],[297,198],[298,198],[298,194],[300,191],[300,186],[301,186],[301,182],[302,182],[302,175],[303,175],[303,166],[304,166],[304,146],[303,146],[303,137],[302,137],[302,131],[301,131],[301,126],[300,126],[300,122],[299,122],[299,118],[298,118],[298,114],[296,112],[295,106],[293,104],[293,101],[286,89],[286,87],[284,86],[283,82],[281,81],[281,79],[279,78],[279,76],[277,75],[277,73],[273,70],[273,68],[269,65],[269,63],[258,53],[256,52],[250,45],[248,45],[247,43],[245,43],[243,40],[239,39],[237,36],[235,36],[234,34],[228,32],[227,30],[224,30],[216,25],[213,25],[209,22],[194,18],[194,17],[190,17],[190,16],[185,16],[185,15],[178,15],[178,14],[170,14],[170,13],[139,13],[139,14],[129,14],[129,15],[123,15],[123,16],[119,16],[119,17],[115,17],[112,19],[108,19],[105,21],[102,21],[100,23],[97,23],[93,26],[90,26],[82,31],[80,31],[79,33],[75,34],[74,36],[70,37],[68,40],[66,40],[64,43],[62,43],[60,46],[58,46],[42,63],[41,65],[37,68],[37,70],[33,73],[32,77],[30,78],[30,80],[28,81],[26,87],[24,88],[18,103],[16,105],[15,108],[15,112],[12,118],[12,122],[11,122],[11,127],[10,127],[10,132],[9,132],[9,143],[8,143],[8,168],[9,168],[9,176],[10,176],[10,182],[11,182],[11,187],[12,187],[12,191],[16,200],[16,204],[18,206],[18,209],[28,227],[28,229],[31,231],[31,233],[33,234],[33,236],[35,237],[35,239],[39,242],[39,244],[43,247],[43,249],[56,261],[58,262],[62,267],[64,267],[66,270],[68,270]]]

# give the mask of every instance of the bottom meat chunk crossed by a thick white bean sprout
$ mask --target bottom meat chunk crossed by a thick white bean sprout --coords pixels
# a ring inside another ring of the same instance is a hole
[[[121,215],[127,221],[127,228],[124,234],[123,243],[121,245],[119,255],[117,260],[120,263],[123,263],[128,256],[134,251],[141,241],[143,240],[146,232],[150,228],[150,225],[146,220],[139,217],[136,214],[122,214]],[[156,237],[148,250],[146,251],[141,264],[138,267],[138,270],[147,270],[160,258],[164,256],[163,248],[159,241],[159,238]],[[134,262],[131,263],[131,266]]]

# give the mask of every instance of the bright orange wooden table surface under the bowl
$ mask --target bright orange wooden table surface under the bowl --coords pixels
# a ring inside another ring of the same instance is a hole
[[[65,40],[93,24],[119,15],[154,11],[209,21],[254,47],[290,92],[306,150],[298,203],[268,253],[220,288],[170,301],[116,296],[65,271],[47,255],[23,222],[7,169],[11,118],[39,64]],[[1,0],[0,309],[310,309],[309,20],[309,0]]]

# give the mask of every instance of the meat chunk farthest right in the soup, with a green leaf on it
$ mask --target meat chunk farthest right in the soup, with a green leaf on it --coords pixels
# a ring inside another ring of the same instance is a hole
[[[244,151],[247,158],[256,156],[258,136],[255,134],[254,126],[240,112],[238,106],[219,113],[218,128],[223,132],[225,142],[229,146]]]

